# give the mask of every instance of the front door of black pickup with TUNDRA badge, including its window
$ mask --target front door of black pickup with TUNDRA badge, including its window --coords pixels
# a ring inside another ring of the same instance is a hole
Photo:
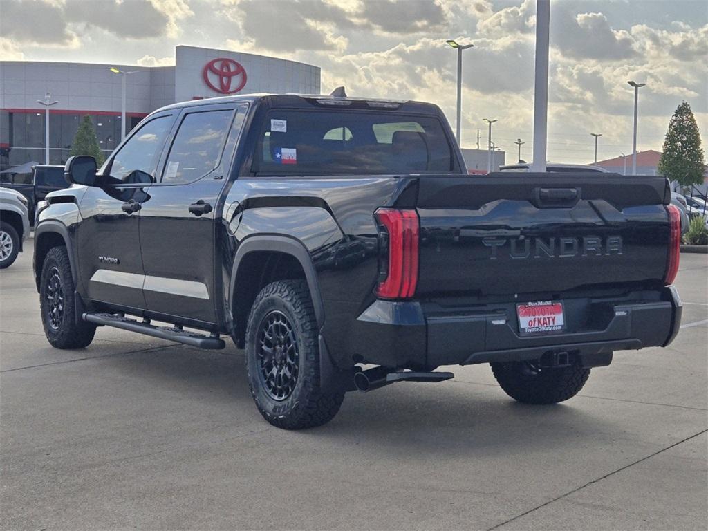
[[[105,164],[81,199],[79,271],[89,299],[145,308],[140,257],[140,210],[148,205],[159,158],[175,116],[166,113],[145,122]]]

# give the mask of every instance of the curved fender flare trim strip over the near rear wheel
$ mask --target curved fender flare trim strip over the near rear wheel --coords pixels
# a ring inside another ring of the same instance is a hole
[[[305,273],[310,297],[312,297],[317,326],[322,329],[322,326],[324,326],[324,302],[322,302],[322,295],[319,291],[319,282],[314,263],[312,263],[312,256],[310,256],[307,247],[304,246],[302,241],[292,236],[249,236],[244,241],[241,241],[231,269],[231,284],[229,285],[229,308],[231,311],[233,312],[234,309],[234,286],[236,285],[236,275],[239,273],[239,265],[241,265],[241,261],[247,254],[254,251],[285,253],[293,256],[299,262]]]

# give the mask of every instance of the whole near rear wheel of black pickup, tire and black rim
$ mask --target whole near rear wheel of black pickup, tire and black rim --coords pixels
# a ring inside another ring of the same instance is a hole
[[[344,391],[321,391],[319,355],[307,282],[281,280],[265,286],[246,326],[246,370],[251,396],[266,421],[298,430],[334,418]]]

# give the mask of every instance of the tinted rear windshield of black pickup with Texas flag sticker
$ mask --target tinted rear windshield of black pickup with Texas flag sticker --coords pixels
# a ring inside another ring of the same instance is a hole
[[[271,110],[258,175],[376,175],[452,171],[438,118],[399,113]]]

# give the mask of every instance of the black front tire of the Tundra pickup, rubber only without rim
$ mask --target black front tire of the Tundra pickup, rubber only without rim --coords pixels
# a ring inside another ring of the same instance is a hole
[[[61,318],[57,319],[57,326],[52,325],[51,302],[47,299],[50,291],[52,276],[58,273],[63,291],[63,308]],[[67,248],[64,246],[52,247],[45,257],[42,265],[42,278],[40,280],[40,309],[42,325],[44,326],[47,341],[55,348],[84,348],[91,344],[96,334],[96,325],[86,321],[76,321],[74,311],[74,278],[72,266],[69,263]]]

